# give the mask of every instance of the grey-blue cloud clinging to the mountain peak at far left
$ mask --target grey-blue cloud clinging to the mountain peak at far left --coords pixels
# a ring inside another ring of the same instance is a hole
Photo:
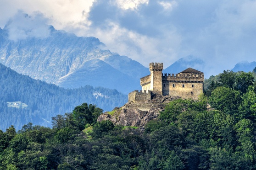
[[[47,19],[39,12],[34,12],[32,16],[18,11],[6,24],[10,40],[18,41],[30,37],[46,38],[50,35]]]

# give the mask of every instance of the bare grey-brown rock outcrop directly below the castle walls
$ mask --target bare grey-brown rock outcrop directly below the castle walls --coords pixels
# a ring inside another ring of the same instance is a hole
[[[165,106],[178,97],[154,96],[143,103],[129,102],[111,112],[105,112],[98,117],[98,122],[110,120],[114,124],[123,126],[144,127],[147,122],[157,119]]]

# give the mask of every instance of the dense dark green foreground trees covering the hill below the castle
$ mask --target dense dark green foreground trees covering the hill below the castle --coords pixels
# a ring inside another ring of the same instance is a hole
[[[254,80],[225,70],[198,101],[171,101],[145,128],[96,122],[102,110],[86,103],[52,117],[52,128],[10,126],[0,131],[0,169],[256,169]]]

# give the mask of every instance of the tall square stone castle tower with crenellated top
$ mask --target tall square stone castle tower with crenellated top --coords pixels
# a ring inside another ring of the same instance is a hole
[[[163,63],[150,63],[150,90],[162,95]]]

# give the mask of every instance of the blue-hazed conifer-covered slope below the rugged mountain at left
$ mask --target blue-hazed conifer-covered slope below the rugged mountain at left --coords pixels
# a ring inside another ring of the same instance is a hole
[[[75,106],[87,102],[105,111],[127,102],[127,95],[117,90],[86,85],[78,89],[64,89],[29,76],[18,74],[0,64],[0,129],[11,124],[17,129],[32,122],[51,126],[51,117],[71,112]],[[22,105],[22,106],[21,106]]]

